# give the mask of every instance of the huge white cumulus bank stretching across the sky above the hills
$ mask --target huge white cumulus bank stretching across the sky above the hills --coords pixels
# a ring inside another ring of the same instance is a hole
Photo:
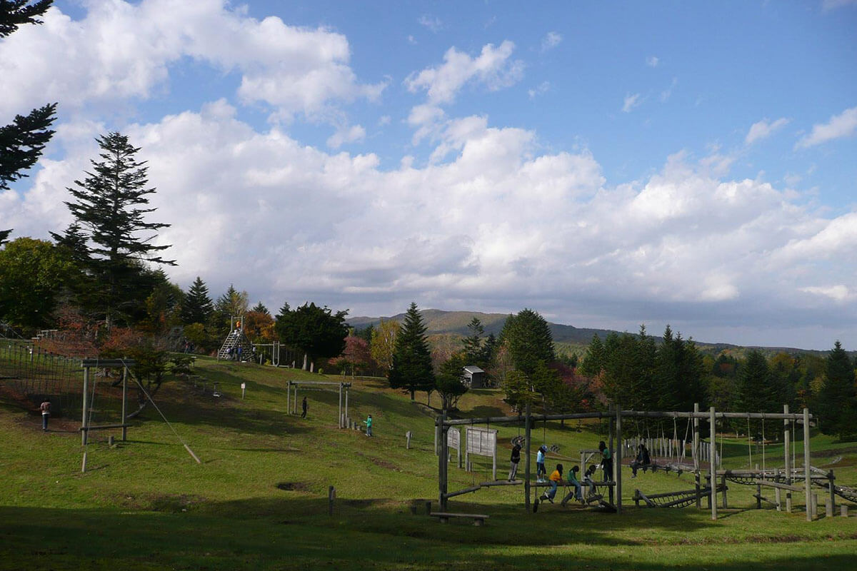
[[[63,127],[68,157],[46,161],[27,193],[0,195],[0,227],[43,236],[69,223],[65,187],[95,155],[92,127]],[[216,292],[252,276],[243,287],[274,306],[535,306],[565,322],[597,307],[642,322],[678,304],[696,307],[682,325],[694,332],[775,327],[787,310],[813,326],[841,319],[852,294],[838,284],[857,277],[857,212],[820,217],[686,153],[611,186],[589,152],[543,152],[533,132],[485,117],[446,122],[446,163],[392,170],[258,132],[223,100],[126,132],[158,187],[152,219],[172,224],[158,239],[179,262],[171,277]]]

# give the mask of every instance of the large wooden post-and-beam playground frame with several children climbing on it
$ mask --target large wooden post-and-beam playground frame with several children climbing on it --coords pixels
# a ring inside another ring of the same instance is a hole
[[[785,479],[785,485],[792,486],[792,490],[790,491],[802,491],[804,492],[804,496],[806,499],[806,520],[811,521],[813,518],[814,506],[813,498],[816,496],[812,493],[812,485],[822,485],[826,490],[830,492],[830,508],[828,511],[832,511],[835,503],[833,502],[833,498],[835,495],[848,499],[849,501],[854,501],[851,498],[857,498],[857,491],[854,491],[851,488],[846,488],[842,486],[836,486],[833,483],[833,474],[824,474],[824,476],[817,476],[813,478],[812,473],[813,469],[811,466],[811,452],[810,452],[810,420],[812,419],[812,415],[809,413],[807,408],[803,409],[802,413],[789,413],[788,406],[783,407],[782,413],[730,413],[730,412],[717,412],[714,407],[710,407],[707,412],[701,412],[699,410],[698,404],[695,405],[694,411],[692,413],[685,412],[661,412],[661,411],[633,411],[633,410],[622,410],[618,405],[611,405],[608,408],[607,413],[603,412],[593,412],[593,413],[567,413],[567,414],[532,414],[530,413],[530,406],[526,407],[526,411],[524,415],[518,416],[505,416],[505,417],[489,417],[482,419],[447,419],[446,411],[443,411],[439,417],[435,420],[435,426],[437,431],[440,433],[440,437],[438,437],[438,441],[440,442],[440,450],[438,455],[438,497],[440,503],[440,511],[446,513],[447,512],[447,500],[450,497],[456,497],[458,495],[469,493],[471,491],[480,490],[482,488],[487,488],[493,485],[524,485],[524,508],[529,513],[530,509],[530,490],[535,489],[537,487],[547,485],[544,483],[533,483],[530,481],[530,461],[532,455],[531,449],[531,427],[534,421],[547,421],[547,420],[565,420],[565,419],[608,419],[609,420],[609,428],[608,428],[608,449],[613,453],[614,464],[613,464],[613,479],[611,482],[602,482],[599,483],[604,485],[604,487],[608,488],[608,502],[603,504],[607,504],[606,507],[614,508],[617,514],[622,513],[622,456],[624,449],[627,444],[626,441],[622,438],[622,421],[623,419],[688,419],[692,422],[693,429],[693,439],[692,439],[692,465],[685,465],[686,467],[690,467],[688,472],[692,472],[694,474],[695,485],[693,490],[690,491],[676,491],[669,492],[667,494],[653,494],[646,495],[641,491],[636,491],[634,494],[634,499],[639,505],[640,501],[643,501],[647,506],[660,506],[660,507],[684,507],[692,504],[696,504],[698,508],[701,507],[701,500],[706,498],[709,503],[709,508],[711,511],[711,519],[717,519],[717,494],[721,494],[722,496],[722,505],[725,507],[727,505],[727,487],[726,480],[734,479],[734,478],[746,478],[752,479],[753,485],[766,485],[769,481],[775,481],[774,479],[769,479],[766,477],[766,473],[764,471],[744,471],[743,473],[739,473],[738,471],[729,471],[729,470],[718,470],[718,462],[717,459],[719,457],[716,450],[716,422],[718,419],[782,419],[783,422],[783,437],[784,437],[784,450],[785,450],[785,469],[782,473],[782,478]],[[522,454],[524,457],[524,480],[521,482],[520,480],[516,480],[514,482],[483,482],[480,485],[474,485],[470,488],[465,488],[464,490],[459,491],[448,491],[447,490],[447,456],[448,456],[448,440],[446,437],[446,432],[449,431],[450,428],[458,426],[458,425],[474,425],[474,424],[506,424],[506,423],[519,423],[524,421],[525,435],[524,435],[524,450]],[[702,450],[703,443],[699,436],[699,421],[707,420],[710,425],[710,437],[709,442],[705,445],[707,448],[706,456],[710,459],[714,459],[714,461],[708,462],[708,467],[704,467],[702,463]],[[789,422],[796,422],[803,424],[803,442],[804,442],[804,463],[803,467],[798,471],[796,468],[792,467],[792,458],[791,455],[788,454],[789,446],[791,442],[791,431],[789,430]],[[618,445],[614,445],[618,444]],[[584,451],[585,452],[585,451]],[[591,451],[590,451],[591,452]],[[583,456],[583,453],[582,453]],[[771,474],[775,474],[771,471]],[[776,475],[776,474],[775,474]],[[717,483],[718,477],[720,478],[720,483]],[[803,480],[803,485],[797,485],[800,480]],[[707,480],[707,482],[706,482]],[[824,484],[822,484],[824,482]],[[760,493],[758,494],[761,495]],[[614,502],[615,499],[615,502]],[[763,498],[764,499],[764,498]],[[759,500],[759,503],[761,500]],[[603,505],[602,504],[602,505]]]

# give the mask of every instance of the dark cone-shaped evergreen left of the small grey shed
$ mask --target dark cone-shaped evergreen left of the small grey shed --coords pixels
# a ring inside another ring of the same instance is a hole
[[[387,378],[391,388],[410,393],[411,401],[417,390],[434,390],[426,326],[416,303],[411,302],[405,312],[405,320],[399,327],[393,347],[393,368]]]

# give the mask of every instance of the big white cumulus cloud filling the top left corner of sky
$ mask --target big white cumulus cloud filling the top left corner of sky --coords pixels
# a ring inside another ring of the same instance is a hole
[[[363,85],[349,66],[347,39],[326,28],[261,21],[225,0],[95,0],[72,20],[50,9],[44,25],[0,43],[4,97],[0,116],[33,100],[63,107],[146,99],[169,89],[182,58],[237,72],[245,103],[271,105],[277,116],[324,116],[331,106],[377,98],[383,84]]]

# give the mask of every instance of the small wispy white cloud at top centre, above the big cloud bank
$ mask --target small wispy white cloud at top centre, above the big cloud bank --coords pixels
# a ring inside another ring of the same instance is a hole
[[[479,56],[470,57],[452,47],[444,54],[443,64],[411,74],[405,79],[405,86],[411,92],[425,90],[429,104],[452,103],[458,91],[471,80],[492,91],[511,86],[524,72],[523,62],[511,59],[514,49],[515,45],[505,40],[497,47],[484,45]]]

